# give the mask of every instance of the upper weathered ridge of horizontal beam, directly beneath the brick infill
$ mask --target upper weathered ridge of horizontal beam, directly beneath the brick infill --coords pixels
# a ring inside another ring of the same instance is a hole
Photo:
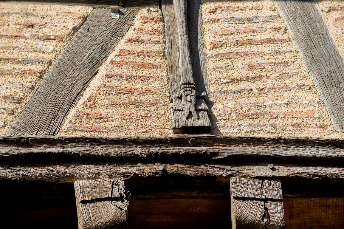
[[[192,143],[192,144],[191,144]],[[247,162],[330,164],[344,161],[344,140],[297,137],[0,137],[0,160]],[[227,161],[229,160],[230,161]]]

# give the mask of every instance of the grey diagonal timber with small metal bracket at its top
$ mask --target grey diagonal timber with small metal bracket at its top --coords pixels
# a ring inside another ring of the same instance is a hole
[[[7,135],[54,135],[82,96],[98,68],[128,31],[137,9],[122,9],[112,19],[110,9],[94,9],[29,102],[7,131]]]

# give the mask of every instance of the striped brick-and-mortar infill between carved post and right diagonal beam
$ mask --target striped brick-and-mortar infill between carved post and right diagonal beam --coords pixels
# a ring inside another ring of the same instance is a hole
[[[202,12],[215,133],[344,136],[335,130],[275,1],[207,2]],[[343,50],[343,34],[336,41]]]

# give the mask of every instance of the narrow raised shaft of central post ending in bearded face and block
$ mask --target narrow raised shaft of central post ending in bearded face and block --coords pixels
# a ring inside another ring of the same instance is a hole
[[[177,23],[179,50],[178,67],[179,79],[175,81],[177,91],[173,99],[173,133],[209,133],[211,124],[208,117],[209,109],[206,105],[207,93],[197,93],[194,80],[193,62],[190,55],[189,32],[187,28],[187,2],[186,0],[174,0],[175,18]],[[197,76],[201,77],[202,76]]]

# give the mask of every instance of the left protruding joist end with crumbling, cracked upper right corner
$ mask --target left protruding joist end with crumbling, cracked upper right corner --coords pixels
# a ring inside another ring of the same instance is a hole
[[[129,193],[122,179],[74,183],[79,229],[127,228]]]

